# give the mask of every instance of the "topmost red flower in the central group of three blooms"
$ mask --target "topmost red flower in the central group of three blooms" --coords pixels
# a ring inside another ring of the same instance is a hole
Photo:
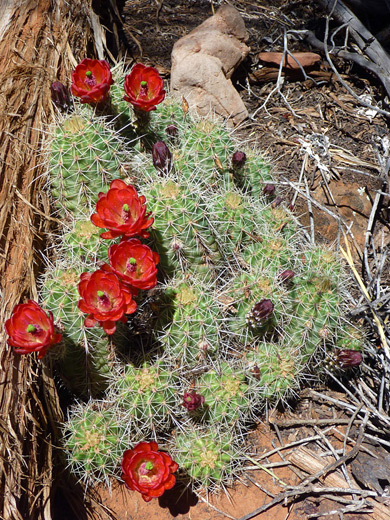
[[[151,212],[146,213],[145,200],[143,195],[138,196],[134,186],[117,179],[111,182],[107,193],[99,193],[97,213],[91,216],[91,221],[97,227],[109,229],[100,235],[102,238],[111,239],[120,235],[147,238],[149,233],[145,230],[154,219],[150,217]]]

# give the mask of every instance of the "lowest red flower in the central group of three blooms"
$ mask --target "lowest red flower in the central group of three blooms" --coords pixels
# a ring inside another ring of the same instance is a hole
[[[126,323],[125,314],[132,314],[137,304],[128,287],[118,277],[102,269],[94,273],[82,273],[78,285],[81,300],[78,307],[88,314],[86,327],[99,324],[107,334],[114,334],[116,322]]]

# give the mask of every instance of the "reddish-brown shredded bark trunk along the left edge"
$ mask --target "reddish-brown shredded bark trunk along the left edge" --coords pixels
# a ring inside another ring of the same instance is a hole
[[[37,299],[53,225],[41,156],[53,117],[50,84],[69,86],[75,59],[94,54],[91,4],[0,1],[0,518],[7,520],[52,518],[57,391],[48,361],[37,365],[7,345],[4,322],[15,305]]]

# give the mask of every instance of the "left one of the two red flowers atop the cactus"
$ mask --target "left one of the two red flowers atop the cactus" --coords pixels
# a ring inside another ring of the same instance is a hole
[[[105,101],[113,83],[106,60],[85,58],[72,72],[72,93],[81,103],[95,105]]]

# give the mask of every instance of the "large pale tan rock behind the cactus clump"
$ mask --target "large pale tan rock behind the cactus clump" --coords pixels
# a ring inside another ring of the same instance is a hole
[[[241,15],[224,5],[178,40],[172,50],[171,91],[201,115],[215,112],[237,125],[248,111],[231,77],[249,53]]]

